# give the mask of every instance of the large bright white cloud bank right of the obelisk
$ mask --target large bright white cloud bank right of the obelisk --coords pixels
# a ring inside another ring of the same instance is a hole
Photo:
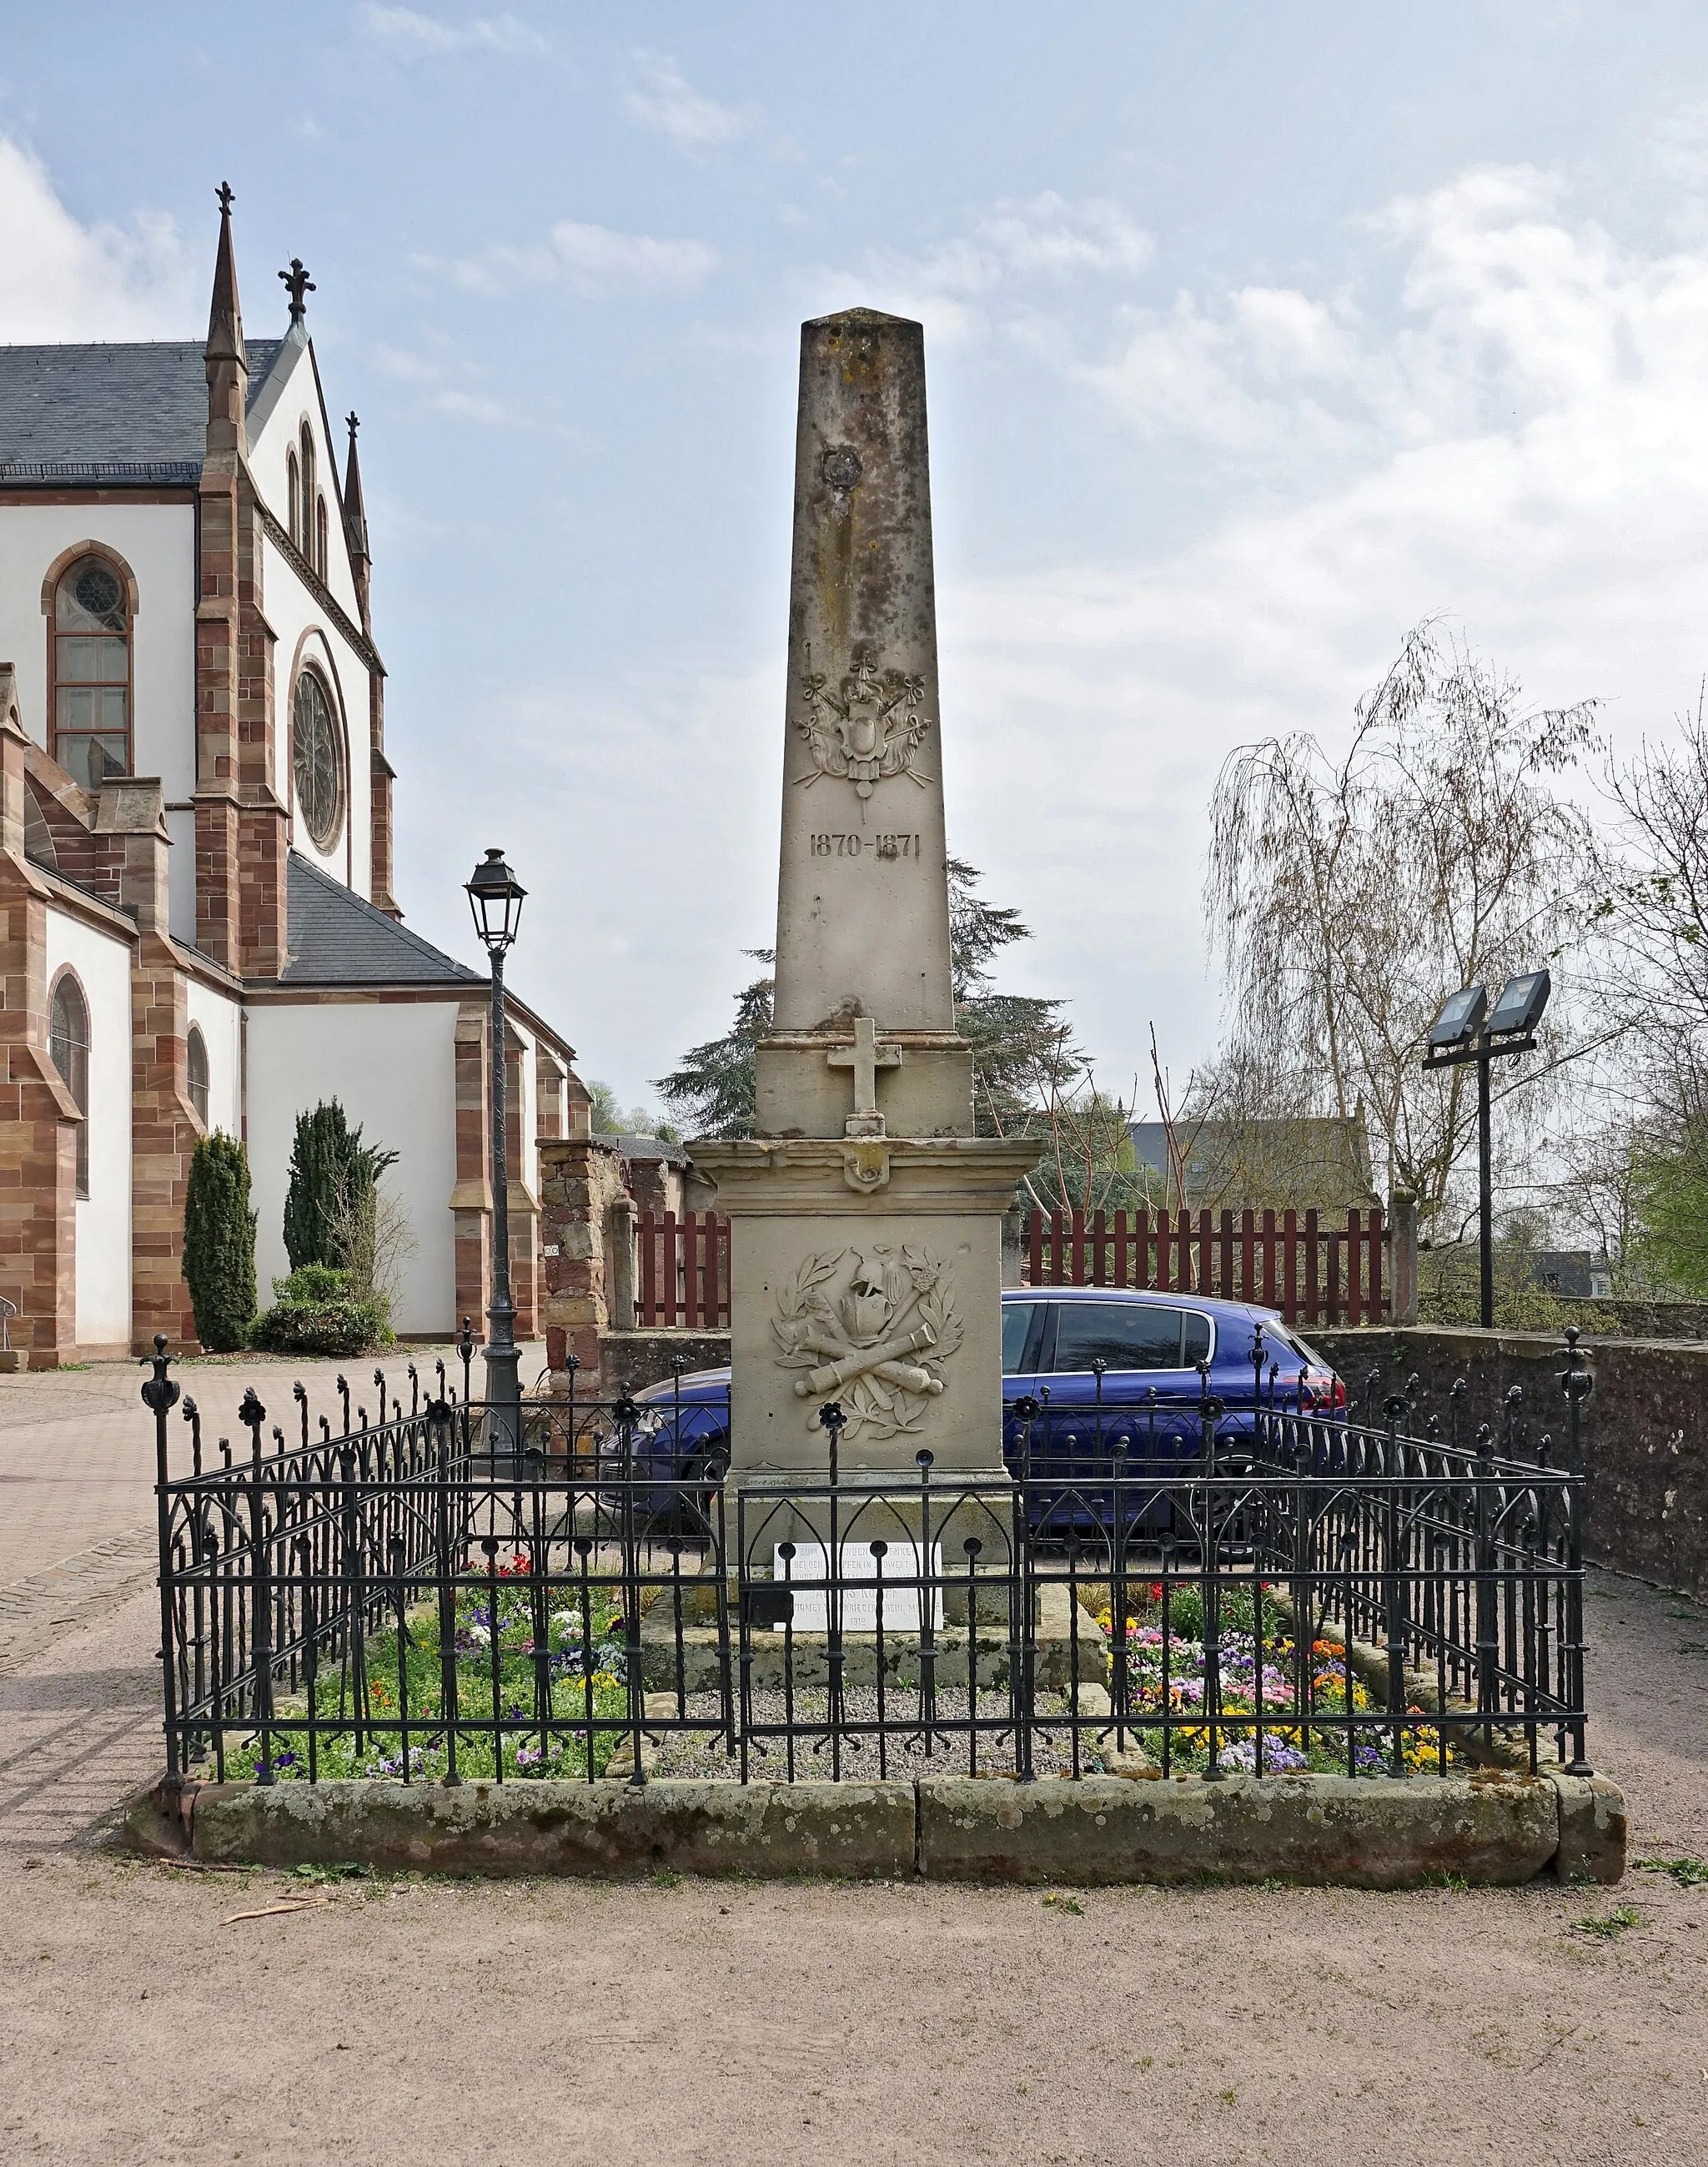
[[[1344,743],[1418,618],[1537,700],[1604,696],[1615,743],[1665,735],[1708,667],[1708,247],[1621,247],[1528,169],[1394,202],[1368,238],[1368,293],[1186,293],[1114,362],[1062,362],[1201,477],[1196,540],[941,572],[956,847],[1038,930],[1017,977],[1071,992],[1114,1073],[1151,1014],[1177,1068],[1214,1031],[1220,761]]]

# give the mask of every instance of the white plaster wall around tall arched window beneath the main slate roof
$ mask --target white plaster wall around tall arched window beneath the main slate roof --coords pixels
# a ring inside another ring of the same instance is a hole
[[[167,800],[186,800],[195,789],[193,505],[0,505],[0,661],[17,665],[24,728],[48,743],[41,581],[78,542],[106,542],[137,574],[134,765],[160,778]]]

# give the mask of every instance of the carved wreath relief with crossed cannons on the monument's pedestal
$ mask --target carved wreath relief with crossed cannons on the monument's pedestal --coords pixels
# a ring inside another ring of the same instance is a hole
[[[852,1270],[832,1292],[841,1268]],[[802,1370],[798,1400],[839,1400],[845,1437],[906,1437],[943,1393],[943,1363],[967,1328],[943,1263],[913,1244],[819,1250],[778,1294],[772,1337],[778,1365]],[[817,1406],[808,1417],[817,1428]]]

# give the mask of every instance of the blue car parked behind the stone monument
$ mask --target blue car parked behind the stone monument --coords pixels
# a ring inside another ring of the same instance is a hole
[[[1261,1341],[1259,1341],[1261,1333]],[[1261,1365],[1253,1359],[1261,1344]],[[1121,1287],[1010,1287],[1001,1296],[1004,1458],[1045,1480],[1177,1465],[1212,1439],[1238,1452],[1264,1404],[1337,1417],[1346,1387],[1272,1309]],[[728,1469],[728,1370],[637,1396],[635,1474],[704,1504]]]

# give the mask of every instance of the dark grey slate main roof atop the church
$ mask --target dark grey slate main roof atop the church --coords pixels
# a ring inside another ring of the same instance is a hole
[[[251,407],[280,345],[245,340]],[[193,483],[206,431],[202,340],[0,347],[0,481]]]

